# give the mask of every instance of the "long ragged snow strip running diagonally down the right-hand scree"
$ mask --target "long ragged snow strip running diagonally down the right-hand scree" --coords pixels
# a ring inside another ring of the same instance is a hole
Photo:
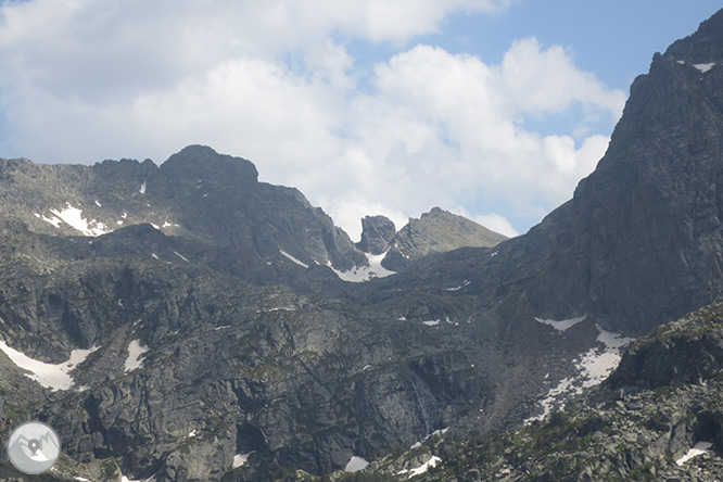
[[[524,420],[525,424],[535,420],[543,420],[553,411],[553,407],[556,405],[565,408],[566,398],[580,395],[584,389],[600,384],[620,364],[620,351],[634,339],[606,331],[597,325],[596,327],[598,330],[597,342],[602,347],[598,345],[589,348],[581,355],[580,360],[573,359],[572,363],[578,369],[578,375],[563,378],[557,386],[550,389],[547,396],[540,402],[543,408],[542,415],[528,418]]]

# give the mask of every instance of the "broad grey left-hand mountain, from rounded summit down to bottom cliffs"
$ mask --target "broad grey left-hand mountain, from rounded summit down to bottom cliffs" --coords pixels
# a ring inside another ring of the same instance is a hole
[[[368,256],[249,161],[0,160],[0,188],[3,420],[50,422],[71,480],[320,473],[482,396],[451,341],[350,299]]]

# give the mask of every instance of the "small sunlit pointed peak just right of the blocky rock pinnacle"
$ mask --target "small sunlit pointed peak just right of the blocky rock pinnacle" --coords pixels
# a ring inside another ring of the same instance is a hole
[[[429,254],[445,253],[458,248],[491,248],[507,238],[484,226],[439,207],[409,219],[389,243],[382,266],[401,271],[414,261]]]

